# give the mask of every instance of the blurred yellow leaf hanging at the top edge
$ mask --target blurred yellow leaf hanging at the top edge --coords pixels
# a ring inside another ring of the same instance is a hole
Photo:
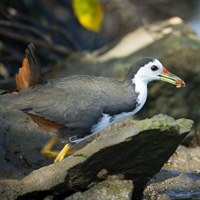
[[[73,0],[73,9],[83,27],[95,32],[101,30],[103,9],[98,0]]]

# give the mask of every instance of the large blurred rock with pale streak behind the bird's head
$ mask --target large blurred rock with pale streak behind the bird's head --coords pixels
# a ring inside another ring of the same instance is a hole
[[[123,79],[136,59],[155,57],[185,80],[187,87],[177,89],[164,82],[151,83],[147,103],[135,116],[143,119],[164,113],[199,122],[200,43],[188,24],[172,18],[141,27],[114,44],[92,53],[74,53],[58,63],[46,78],[90,74]]]

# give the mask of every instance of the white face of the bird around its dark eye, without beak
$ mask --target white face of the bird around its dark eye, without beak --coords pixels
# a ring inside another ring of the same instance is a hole
[[[162,64],[155,59],[153,62],[149,62],[148,64],[141,67],[135,77],[132,79],[132,82],[136,83],[139,81],[147,84],[150,81],[160,80],[162,71]]]

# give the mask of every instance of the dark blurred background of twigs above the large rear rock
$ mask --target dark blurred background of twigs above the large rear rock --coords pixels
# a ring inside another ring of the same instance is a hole
[[[37,47],[43,73],[75,51],[93,51],[143,25],[173,16],[198,16],[196,0],[100,0],[104,19],[100,33],[82,27],[65,0],[0,1],[1,78],[13,77],[28,43]]]

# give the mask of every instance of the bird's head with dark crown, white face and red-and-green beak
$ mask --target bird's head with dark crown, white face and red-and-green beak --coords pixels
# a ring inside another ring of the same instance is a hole
[[[126,79],[131,79],[133,83],[149,83],[154,80],[162,80],[177,87],[185,87],[182,79],[167,71],[163,65],[154,58],[142,58],[136,61],[130,68]]]

